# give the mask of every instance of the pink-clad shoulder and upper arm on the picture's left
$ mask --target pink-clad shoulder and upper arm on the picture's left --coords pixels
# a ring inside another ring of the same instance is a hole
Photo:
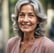
[[[12,37],[8,40],[6,45],[6,53],[10,53],[11,49],[17,43],[18,40],[20,40],[18,36]]]

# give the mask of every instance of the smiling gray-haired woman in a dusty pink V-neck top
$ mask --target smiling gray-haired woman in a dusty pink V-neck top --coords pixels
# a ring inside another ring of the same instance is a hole
[[[54,53],[54,45],[44,36],[46,16],[38,0],[19,0],[13,26],[18,36],[8,41],[6,53]]]

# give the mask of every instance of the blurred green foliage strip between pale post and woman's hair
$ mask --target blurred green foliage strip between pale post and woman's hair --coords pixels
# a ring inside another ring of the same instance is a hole
[[[13,22],[12,22],[12,20],[11,20],[11,14],[12,13],[14,13],[14,8],[15,8],[15,4],[16,4],[16,2],[17,2],[18,0],[9,0],[9,31],[10,31],[10,36],[9,37],[12,37],[12,36],[14,36],[14,32],[13,32],[13,27],[12,27],[12,24],[13,24]]]

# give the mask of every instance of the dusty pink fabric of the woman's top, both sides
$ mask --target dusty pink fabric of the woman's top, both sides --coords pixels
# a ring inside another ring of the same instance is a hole
[[[6,53],[20,53],[20,42],[21,39],[17,36],[8,40]],[[45,36],[37,38],[30,53],[54,53],[54,43]]]

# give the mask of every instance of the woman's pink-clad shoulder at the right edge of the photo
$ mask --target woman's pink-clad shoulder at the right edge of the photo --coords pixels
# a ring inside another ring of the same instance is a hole
[[[44,37],[43,46],[45,48],[45,53],[54,53],[54,43],[47,37]]]

